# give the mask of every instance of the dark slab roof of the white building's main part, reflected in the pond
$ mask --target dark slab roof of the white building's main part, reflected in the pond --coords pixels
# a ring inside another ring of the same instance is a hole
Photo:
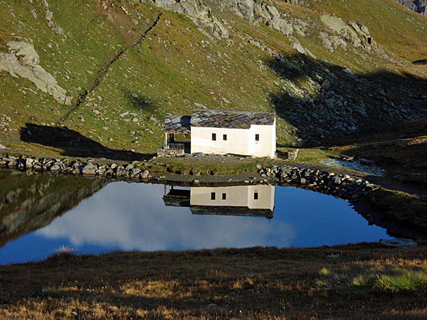
[[[238,215],[242,217],[273,218],[273,210],[233,206],[190,206],[194,215]]]

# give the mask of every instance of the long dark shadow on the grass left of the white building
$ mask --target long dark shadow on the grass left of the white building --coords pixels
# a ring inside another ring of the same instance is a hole
[[[119,161],[141,161],[154,156],[153,154],[110,149],[67,127],[48,127],[27,123],[26,127],[21,127],[20,134],[23,142],[62,149],[63,156],[106,158]]]

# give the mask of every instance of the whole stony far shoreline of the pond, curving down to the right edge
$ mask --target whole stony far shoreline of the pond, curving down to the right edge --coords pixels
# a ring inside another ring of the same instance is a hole
[[[121,164],[120,164],[121,163]],[[162,183],[176,186],[233,186],[242,184],[270,184],[277,186],[292,186],[306,190],[324,193],[337,198],[342,198],[354,210],[362,215],[369,224],[386,228],[390,235],[396,238],[426,239],[427,219],[411,223],[400,213],[402,208],[410,206],[408,201],[401,203],[401,208],[384,209],[383,198],[396,198],[399,201],[399,192],[389,191],[379,185],[369,183],[360,176],[352,174],[335,174],[331,171],[310,169],[305,166],[270,166],[257,165],[258,172],[245,172],[240,174],[176,174],[172,172],[150,172],[147,162],[133,161],[132,163],[120,162],[116,164],[102,164],[94,160],[80,159],[52,159],[36,158],[35,156],[7,156],[0,154],[0,168],[14,169],[31,172],[31,174],[71,174],[93,178],[106,178],[107,181],[127,181],[142,183]],[[100,172],[98,171],[100,170]],[[339,170],[337,170],[339,171]],[[391,193],[391,194],[390,194]],[[385,194],[386,196],[383,196]],[[423,201],[423,199],[421,199]],[[385,202],[388,203],[385,199]],[[382,208],[381,208],[382,205]],[[396,214],[394,214],[396,213]]]

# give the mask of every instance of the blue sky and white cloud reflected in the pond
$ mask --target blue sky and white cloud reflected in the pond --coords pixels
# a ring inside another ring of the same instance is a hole
[[[303,189],[276,186],[271,220],[192,215],[189,208],[164,206],[163,194],[162,185],[109,183],[47,227],[1,247],[0,263],[38,260],[61,245],[98,253],[315,247],[391,238],[385,229],[369,226],[346,201]]]

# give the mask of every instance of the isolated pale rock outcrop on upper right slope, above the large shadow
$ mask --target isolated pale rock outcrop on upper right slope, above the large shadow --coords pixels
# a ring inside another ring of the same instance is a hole
[[[342,18],[327,14],[320,16],[320,19],[334,33],[333,36],[329,36],[327,33],[320,33],[323,45],[332,52],[337,47],[346,50],[347,44],[364,49],[370,49],[375,44],[374,39],[372,39],[369,33],[369,29],[362,23],[355,21],[347,23]]]

